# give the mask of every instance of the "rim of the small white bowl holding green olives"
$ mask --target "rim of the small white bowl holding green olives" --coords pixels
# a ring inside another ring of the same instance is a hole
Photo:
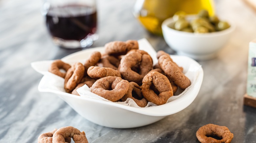
[[[194,18],[196,18],[196,15],[187,15],[186,16],[186,19],[194,19]],[[180,36],[202,38],[202,37],[218,37],[221,35],[229,34],[235,30],[235,25],[231,22],[228,22],[230,24],[230,27],[225,30],[222,30],[222,31],[210,32],[210,33],[190,33],[190,32],[179,31],[179,30],[170,28],[168,25],[171,23],[174,23],[174,20],[172,17],[167,18],[163,21],[163,23],[161,25],[163,33],[165,33],[164,31],[168,31],[168,32],[172,32],[174,34],[180,35]]]

